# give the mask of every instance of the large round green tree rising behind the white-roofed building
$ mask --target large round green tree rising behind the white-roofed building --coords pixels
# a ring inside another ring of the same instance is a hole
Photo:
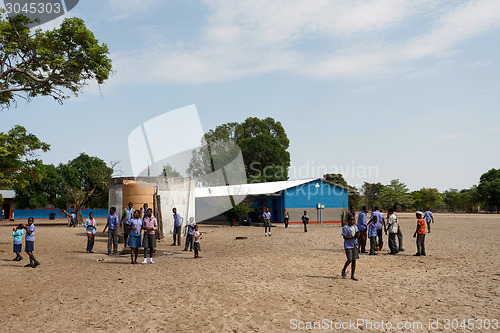
[[[237,173],[241,167],[245,168],[250,182],[287,180],[290,167],[288,146],[289,140],[283,126],[272,118],[250,117],[241,124],[222,124],[205,134],[202,147],[193,152],[188,174],[199,179],[224,167],[226,177],[216,179],[214,175],[212,178],[214,184],[221,184],[228,178],[235,179],[231,173],[239,178]],[[227,165],[240,151],[244,166],[235,165],[232,170]]]

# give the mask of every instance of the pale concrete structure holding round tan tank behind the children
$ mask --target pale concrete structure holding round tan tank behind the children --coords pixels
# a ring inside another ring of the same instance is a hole
[[[112,178],[109,206],[116,207],[120,219],[129,202],[134,203],[134,209],[141,209],[144,203],[148,203],[158,218],[162,235],[167,236],[174,227],[172,208],[177,208],[182,215],[184,225],[189,217],[195,216],[194,180],[180,177]]]

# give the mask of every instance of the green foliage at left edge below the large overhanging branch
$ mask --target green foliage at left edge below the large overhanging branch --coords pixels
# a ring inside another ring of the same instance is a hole
[[[42,178],[42,161],[37,152],[50,146],[20,125],[0,132],[0,189],[22,188]]]

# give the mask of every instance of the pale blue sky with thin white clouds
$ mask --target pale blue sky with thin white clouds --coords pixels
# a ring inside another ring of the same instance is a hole
[[[20,124],[51,145],[46,163],[85,152],[131,175],[134,129],[194,104],[203,131],[280,121],[290,179],[444,191],[500,168],[498,1],[85,0],[42,28],[73,16],[108,45],[111,77],[63,105],[0,111],[1,132]],[[163,130],[175,145],[192,129]]]

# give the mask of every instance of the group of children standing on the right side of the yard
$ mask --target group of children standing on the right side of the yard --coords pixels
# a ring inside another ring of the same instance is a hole
[[[355,276],[356,271],[356,260],[359,259],[359,252],[361,251],[361,244],[358,241],[363,237],[363,231],[360,229],[364,226],[365,237],[367,236],[370,240],[370,252],[369,255],[376,255],[375,251],[382,250],[383,240],[382,240],[382,230],[385,233],[389,233],[389,254],[397,254],[402,247],[402,241],[400,241],[399,247],[396,243],[396,237],[401,233],[401,227],[399,225],[398,216],[394,208],[390,208],[387,215],[387,227],[385,225],[385,219],[383,214],[379,211],[378,207],[375,207],[369,222],[366,222],[367,209],[366,206],[363,207],[360,213],[360,218],[358,219],[358,225],[355,225],[355,214],[349,213],[347,217],[347,224],[342,228],[342,237],[344,238],[344,249],[346,253],[347,260],[342,268],[341,275],[345,278],[348,274],[347,268],[351,265],[351,279],[357,281]],[[430,224],[434,223],[434,217],[429,208],[425,213],[421,211],[416,212],[417,218],[417,228],[413,237],[416,238],[417,253],[415,256],[425,256],[425,227],[426,222],[430,232]],[[363,218],[365,223],[363,223]],[[360,222],[361,221],[361,222]],[[377,243],[377,237],[379,241]],[[402,237],[402,233],[401,233]],[[366,238],[365,238],[366,242]],[[364,250],[364,247],[363,247]],[[404,250],[402,250],[404,251]],[[361,253],[366,253],[361,251]]]

